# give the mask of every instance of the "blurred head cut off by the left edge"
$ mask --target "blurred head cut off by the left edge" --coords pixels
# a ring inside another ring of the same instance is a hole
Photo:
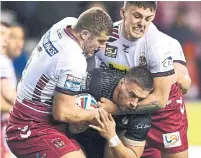
[[[8,46],[8,40],[9,40],[9,34],[10,34],[10,29],[9,25],[5,22],[1,22],[1,53],[5,53],[7,46]]]

